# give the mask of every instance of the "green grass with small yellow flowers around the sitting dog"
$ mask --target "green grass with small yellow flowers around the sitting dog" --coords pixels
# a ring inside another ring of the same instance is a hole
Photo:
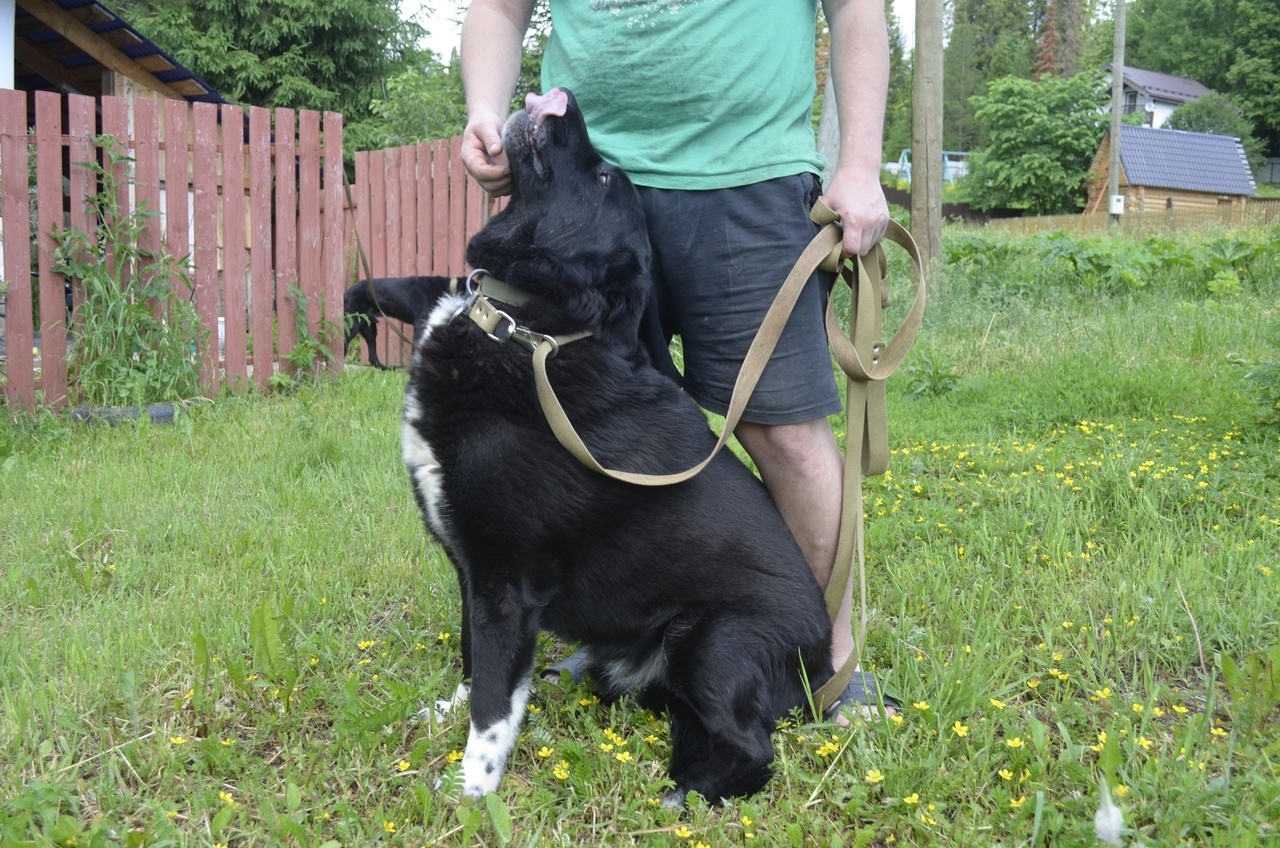
[[[499,797],[449,792],[466,711],[407,720],[457,683],[458,602],[403,375],[173,427],[5,418],[0,845],[1088,845],[1103,775],[1133,844],[1276,844],[1254,270],[1208,298],[952,269],[867,483],[865,661],[908,706],[787,722],[763,793],[682,813],[666,724],[585,688],[539,685]]]

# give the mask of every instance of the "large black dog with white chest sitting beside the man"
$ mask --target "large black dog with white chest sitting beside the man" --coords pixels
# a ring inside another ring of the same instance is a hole
[[[532,298],[498,304],[521,327],[591,332],[548,370],[602,464],[696,464],[716,442],[707,420],[637,345],[650,252],[635,188],[596,154],[567,91],[530,95],[503,135],[511,204],[467,261]],[[603,697],[639,689],[669,713],[669,803],[760,789],[777,720],[805,703],[805,676],[817,688],[832,674],[822,593],[773,501],[727,451],[671,487],[588,470],[539,409],[529,350],[495,341],[460,305],[440,297],[420,329],[402,444],[462,588],[463,792],[498,787],[539,629],[588,646]]]

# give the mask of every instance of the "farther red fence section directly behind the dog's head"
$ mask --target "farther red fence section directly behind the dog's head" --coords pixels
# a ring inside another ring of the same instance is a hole
[[[355,227],[369,261],[367,273],[362,263],[356,265],[357,278],[466,273],[467,240],[504,202],[490,202],[466,174],[458,163],[461,149],[462,138],[454,137],[356,154]],[[412,327],[396,324],[406,339],[413,337]],[[408,346],[394,330],[379,329],[378,345],[385,365],[408,363]],[[361,355],[367,361],[364,342]]]

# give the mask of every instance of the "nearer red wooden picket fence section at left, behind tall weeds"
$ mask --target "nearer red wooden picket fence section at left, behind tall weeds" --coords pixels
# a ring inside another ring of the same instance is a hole
[[[95,101],[79,95],[64,101],[58,94],[37,92],[31,131],[27,97],[22,91],[0,91],[0,220],[9,289],[0,382],[10,405],[67,402],[67,314],[63,279],[52,272],[51,233],[55,225],[84,232],[95,225],[84,205],[96,191],[93,174],[77,163],[97,155],[97,133],[114,136],[133,158],[118,173],[122,211],[129,204],[146,204],[163,213],[147,222],[140,241],[192,261],[196,310],[209,333],[201,365],[205,392],[266,386],[296,341],[291,283],[307,295],[312,333],[320,327],[321,305],[324,318],[340,327],[342,292],[349,282],[342,115],[251,106],[246,123],[239,106]],[[35,233],[28,193],[32,146]],[[38,315],[32,314],[33,288],[40,293]],[[273,325],[278,325],[274,343]]]

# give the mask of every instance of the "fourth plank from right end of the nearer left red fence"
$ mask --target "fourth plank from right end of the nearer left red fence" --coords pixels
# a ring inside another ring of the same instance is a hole
[[[275,370],[271,339],[275,277],[271,273],[271,113],[262,106],[248,110],[248,202],[253,382],[266,388]],[[280,320],[285,320],[288,304],[279,304],[279,311]]]

